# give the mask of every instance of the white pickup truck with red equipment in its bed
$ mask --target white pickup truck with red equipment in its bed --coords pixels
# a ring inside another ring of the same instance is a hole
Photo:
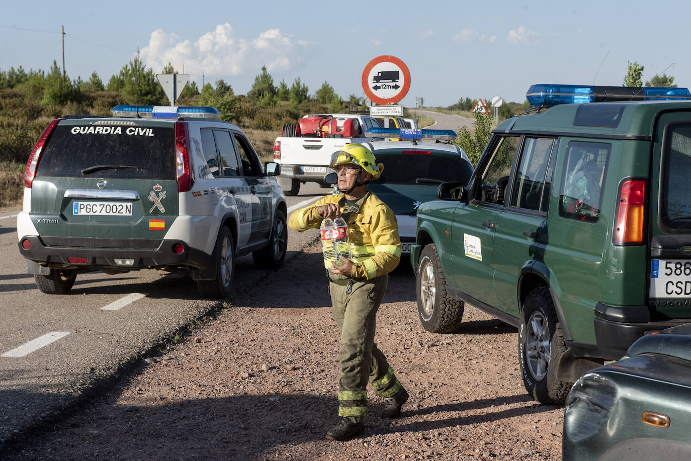
[[[379,126],[369,115],[326,113],[309,114],[297,123],[283,125],[281,136],[274,142],[274,161],[281,164],[278,185],[287,196],[296,196],[300,185],[323,182],[329,173],[332,153],[349,142],[366,142],[365,131]]]

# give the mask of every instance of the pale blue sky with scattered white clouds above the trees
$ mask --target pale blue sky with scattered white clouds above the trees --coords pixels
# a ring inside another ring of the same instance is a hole
[[[172,62],[201,87],[224,79],[245,94],[267,66],[314,93],[328,82],[363,96],[371,59],[410,70],[402,104],[448,106],[462,97],[523,102],[531,84],[619,86],[627,62],[691,86],[691,2],[621,1],[5,1],[0,70],[61,66],[108,82],[139,47],[148,68]]]

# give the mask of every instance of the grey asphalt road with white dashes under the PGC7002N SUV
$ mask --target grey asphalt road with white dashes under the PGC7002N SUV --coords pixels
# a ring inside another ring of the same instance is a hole
[[[314,183],[303,185],[299,196],[287,197],[288,214],[327,192]],[[43,294],[17,250],[12,217],[17,212],[0,214],[0,451],[219,305],[201,299],[190,279],[155,270],[82,274],[70,294]],[[317,236],[316,229],[303,234],[289,229],[287,258]],[[239,258],[235,267],[238,293],[268,276],[254,267],[252,256]]]

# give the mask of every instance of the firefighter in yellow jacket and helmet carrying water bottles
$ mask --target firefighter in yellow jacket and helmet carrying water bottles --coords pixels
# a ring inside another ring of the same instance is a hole
[[[328,268],[334,319],[341,332],[339,422],[326,433],[332,440],[351,440],[364,431],[368,382],[384,397],[382,417],[398,417],[408,393],[375,344],[377,310],[386,292],[388,273],[401,258],[401,241],[393,211],[368,191],[370,180],[384,169],[362,144],[347,144],[333,154],[342,194],[329,195],[296,210],[288,225],[297,231],[319,228],[323,218],[342,214],[348,223],[351,258],[341,256]]]

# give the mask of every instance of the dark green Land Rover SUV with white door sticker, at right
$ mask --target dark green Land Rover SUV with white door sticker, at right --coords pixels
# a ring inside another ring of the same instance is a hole
[[[691,321],[691,94],[527,98],[538,113],[497,126],[468,185],[417,209],[411,259],[423,326],[455,331],[471,303],[517,327],[528,393],[556,404],[645,332]]]

